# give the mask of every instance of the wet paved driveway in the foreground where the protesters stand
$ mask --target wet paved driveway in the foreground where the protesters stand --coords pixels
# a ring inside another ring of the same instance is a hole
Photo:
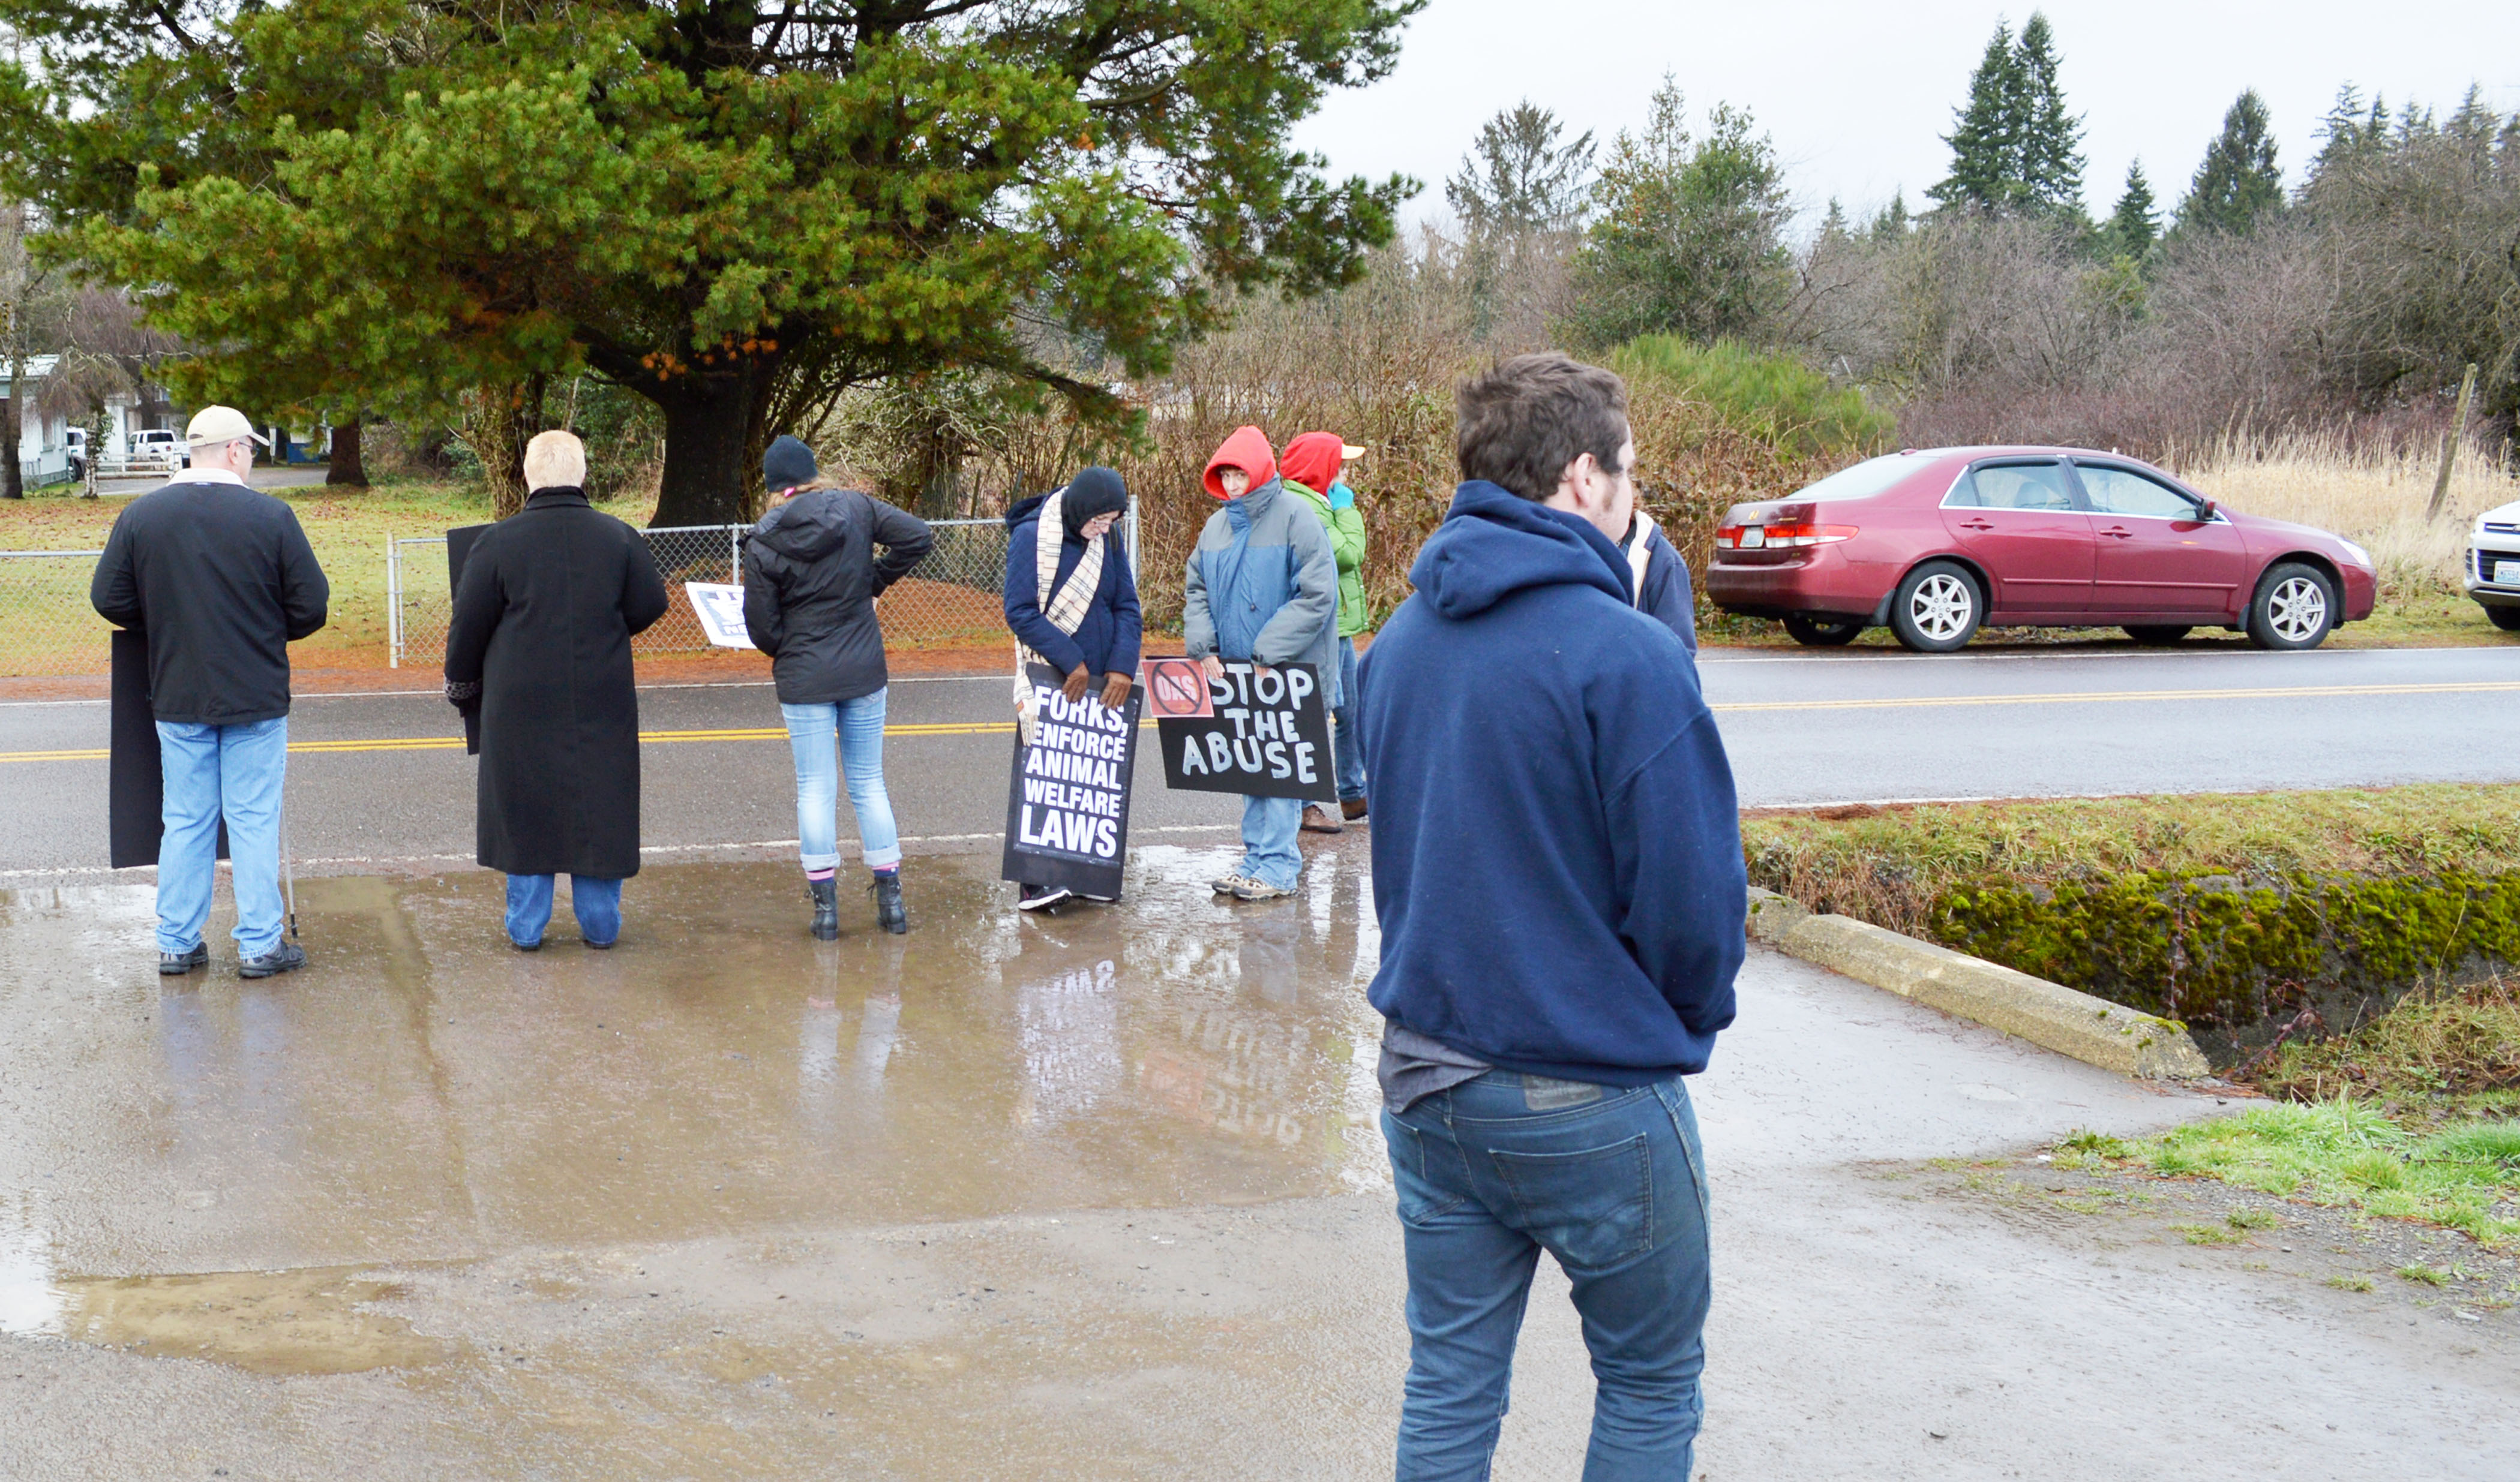
[[[789,864],[660,864],[537,955],[484,872],[333,877],[265,983],[159,980],[144,882],[0,887],[0,1477],[1389,1477],[1378,943],[1363,839],[1308,852],[1056,917],[942,857],[829,945]],[[2510,1474],[2512,1313],[1920,1162],[2210,1094],[1754,950],[1691,1099],[1709,1482]],[[1588,1419],[1542,1263],[1497,1474]]]

